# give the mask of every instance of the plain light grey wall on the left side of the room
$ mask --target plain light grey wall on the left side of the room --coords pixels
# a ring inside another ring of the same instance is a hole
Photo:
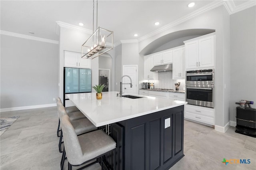
[[[0,69],[1,109],[56,103],[58,44],[1,34]]]

